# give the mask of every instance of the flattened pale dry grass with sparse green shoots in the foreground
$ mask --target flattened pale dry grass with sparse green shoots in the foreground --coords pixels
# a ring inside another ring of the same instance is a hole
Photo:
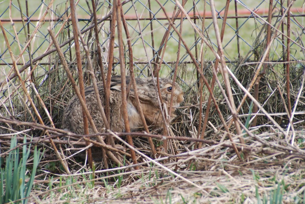
[[[188,152],[164,166],[175,169],[178,174],[196,183],[200,189],[158,167],[142,167],[141,170],[100,176],[95,187],[74,176],[74,184],[59,190],[59,178],[43,189],[52,191],[32,192],[32,202],[109,202],[109,203],[258,203],[256,192],[269,197],[282,195],[283,203],[297,203],[303,199],[304,162],[282,154],[258,158],[250,154],[249,162],[234,162],[227,155],[210,152],[211,147]],[[212,159],[213,158],[213,159]],[[257,161],[256,161],[257,160]],[[104,175],[106,173],[103,173]],[[111,173],[109,173],[111,174]],[[121,176],[121,178],[119,178]],[[121,181],[120,181],[121,179]],[[120,186],[118,186],[118,182]],[[68,183],[66,181],[66,183]],[[57,188],[55,188],[57,187]],[[39,188],[38,188],[39,189]],[[277,192],[278,190],[278,192]]]

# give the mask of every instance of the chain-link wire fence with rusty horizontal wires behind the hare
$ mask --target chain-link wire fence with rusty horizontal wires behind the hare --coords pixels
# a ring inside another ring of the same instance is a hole
[[[224,56],[228,65],[235,66],[236,63],[243,59],[244,62],[259,61],[260,53],[254,52],[257,49],[263,49],[266,41],[267,17],[269,3],[272,3],[272,32],[277,30],[277,36],[272,44],[269,61],[285,62],[285,52],[290,50],[290,61],[300,62],[304,59],[302,37],[304,34],[304,13],[302,2],[294,2],[290,8],[290,39],[291,43],[287,48],[287,19],[282,27],[277,27],[278,21],[287,8],[286,1],[229,1],[228,18],[225,21],[225,34],[223,38]],[[178,10],[174,0],[161,1],[165,11],[170,18],[173,13]],[[180,2],[181,3],[181,2]],[[111,1],[97,1],[97,13],[101,23],[99,23],[100,46],[102,47],[102,56],[105,64],[107,63],[108,46],[110,40],[110,21],[109,12],[112,9]],[[155,1],[124,1],[123,11],[127,20],[128,29],[131,34],[131,42],[133,48],[133,65],[136,69],[138,77],[149,76],[149,64],[154,66],[158,60],[162,58],[159,51],[165,44],[161,44],[162,38],[168,28],[168,20],[163,9]],[[223,23],[223,15],[225,10],[224,1],[216,1],[215,7],[217,11],[218,25],[221,27]],[[47,9],[49,8],[49,9]],[[217,51],[217,41],[215,37],[213,21],[211,19],[209,1],[186,1],[184,9],[190,19],[183,17],[182,20],[182,36],[188,45],[192,55],[196,57],[198,63],[201,63],[200,55],[203,52],[204,60],[215,61],[215,56],[210,52],[205,44],[202,44],[199,34],[194,30],[191,22],[196,28],[203,32],[204,37],[210,42],[210,45]],[[70,39],[72,34],[72,26],[70,25],[70,9],[68,1],[23,1],[23,2],[2,2],[0,19],[4,26],[5,33],[9,39],[9,44],[13,55],[18,59],[17,66],[23,71],[23,77],[29,78],[33,73],[38,84],[43,84],[48,77],[48,73],[52,73],[55,65],[55,52],[49,52],[53,47],[50,46],[50,37],[47,27],[51,27],[61,43]],[[204,13],[204,11],[206,11]],[[205,16],[204,16],[205,15]],[[108,16],[108,18],[107,18]],[[80,1],[77,3],[77,17],[80,24],[80,30],[84,37],[91,43],[94,48],[94,36],[92,30],[88,29],[93,25],[93,17],[91,5],[88,1]],[[204,26],[202,26],[204,18]],[[174,25],[179,30],[180,15],[173,18]],[[63,24],[65,25],[63,26]],[[63,27],[62,27],[63,26]],[[202,28],[204,27],[204,30]],[[37,29],[37,32],[34,32]],[[143,36],[143,37],[142,37]],[[6,83],[5,78],[13,76],[13,62],[8,47],[5,45],[3,34],[1,35],[2,46],[0,48],[0,66],[2,84]],[[27,45],[28,39],[31,38],[30,45]],[[142,39],[143,38],[143,39]],[[142,43],[142,40],[144,44]],[[175,69],[176,57],[178,52],[179,37],[173,28],[166,39],[166,50],[162,58],[162,66],[160,70],[161,77],[172,77]],[[124,43],[126,44],[126,38]],[[115,38],[115,47],[118,46],[117,38]],[[68,62],[75,62],[73,41],[66,43],[62,47]],[[23,53],[24,51],[24,53]],[[193,62],[186,51],[185,46],[181,45],[181,55],[179,58],[179,66],[184,67],[185,75],[178,74],[180,82],[185,86],[192,85],[196,81],[196,69],[192,66]],[[91,50],[92,53],[95,50]],[[20,54],[23,53],[23,54]],[[45,54],[47,53],[47,54]],[[128,66],[128,48],[125,46],[125,59]],[[147,56],[146,56],[147,54]],[[84,55],[83,55],[84,56]],[[86,61],[84,60],[84,67]],[[113,71],[119,73],[119,51],[114,49]],[[15,80],[15,78],[13,78]],[[6,89],[0,95],[2,98]]]

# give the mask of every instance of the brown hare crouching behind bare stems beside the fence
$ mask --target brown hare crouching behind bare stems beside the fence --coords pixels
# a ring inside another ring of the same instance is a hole
[[[123,111],[122,111],[122,96],[121,96],[121,80],[120,76],[114,76],[111,79],[110,85],[110,129],[116,132],[125,131]],[[130,77],[126,77],[126,84],[129,84]],[[173,81],[167,78],[160,78],[160,91],[163,103],[169,109],[170,97],[173,92],[173,108],[170,118],[174,119],[175,109],[183,102],[183,91],[178,84],[172,87]],[[143,114],[148,125],[160,126],[162,124],[163,117],[160,112],[160,107],[157,99],[157,93],[153,85],[152,78],[140,79],[136,78],[136,86],[140,104],[143,110]],[[99,95],[102,101],[102,105],[105,104],[104,88],[102,82],[98,82]],[[105,126],[102,120],[101,113],[97,104],[97,100],[94,93],[93,86],[85,88],[86,106],[95,126],[99,132],[105,132]],[[127,112],[131,131],[135,131],[138,127],[143,127],[141,117],[138,113],[134,90],[129,91],[127,97]],[[84,134],[83,115],[81,104],[75,95],[71,98],[70,102],[66,106],[63,114],[62,127],[76,134]],[[93,129],[89,124],[89,134],[93,134]]]

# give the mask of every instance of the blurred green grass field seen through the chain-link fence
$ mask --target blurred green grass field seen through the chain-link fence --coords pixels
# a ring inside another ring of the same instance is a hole
[[[165,1],[162,2],[165,5],[165,9],[167,11],[167,13],[169,13],[171,15],[171,13],[174,10],[174,2],[171,1]],[[286,2],[285,2],[286,3]],[[1,19],[2,20],[9,20],[9,9],[7,8],[9,2],[8,1],[3,1],[1,3],[2,5],[2,11],[0,11],[0,15],[1,15]],[[20,2],[21,5],[21,9],[22,12],[25,14],[26,13],[26,6],[25,6],[25,2]],[[46,6],[48,5],[47,1],[39,2],[39,4],[37,2],[33,3],[33,1],[28,1],[28,13],[31,16],[31,19],[37,20],[39,19],[39,17],[43,14],[43,12],[45,11]],[[103,16],[106,15],[106,13],[108,12],[108,3],[105,2],[103,4],[104,6],[100,7],[99,11],[98,11],[98,17],[102,18]],[[225,2],[222,1],[216,1],[215,2],[215,7],[217,11],[223,11],[224,9],[224,5]],[[279,2],[277,2],[276,4],[274,4],[276,6],[276,8],[274,9],[274,13],[276,13],[279,9]],[[300,14],[303,12],[302,10],[302,5],[303,2],[302,1],[296,1],[293,4],[293,14]],[[135,6],[138,12],[138,16],[141,18],[145,18],[145,17],[149,17],[149,11],[148,11],[148,3],[147,2],[141,2],[141,1],[135,1]],[[185,10],[186,11],[190,11],[190,14],[193,13],[192,11],[192,6],[193,3],[191,1],[188,1],[185,5]],[[237,11],[239,11],[240,13],[242,13],[239,16],[246,16],[243,14],[243,12],[247,11],[247,8],[250,10],[253,9],[257,9],[258,11],[262,10],[265,11],[264,13],[262,13],[263,15],[267,15],[267,9],[269,6],[269,2],[268,1],[261,1],[261,2],[255,2],[255,1],[244,1],[241,3],[237,3]],[[203,2],[198,1],[196,3],[196,12],[197,15],[198,13],[200,13],[202,15],[203,13],[203,7],[204,4]],[[4,9],[5,8],[5,9]],[[46,15],[46,19],[53,19],[56,20],[56,18],[58,16],[61,16],[64,11],[66,10],[66,2],[65,1],[54,1],[54,3],[52,4],[52,11],[48,12],[48,14]],[[131,2],[128,2],[127,4],[123,5],[123,9],[124,11],[128,10],[126,13],[127,18],[128,17],[132,17],[135,18],[135,10],[132,8],[132,4]],[[89,11],[88,11],[88,6],[86,4],[86,2],[84,1],[80,1],[78,6],[77,6],[77,14],[78,14],[78,18],[79,19],[90,19],[90,15],[89,15]],[[207,13],[210,11],[210,6],[206,5],[206,10]],[[234,14],[234,2],[232,1],[230,3],[229,6],[229,15],[228,16],[235,16]],[[296,12],[296,10],[298,12]],[[12,4],[12,9],[11,9],[11,17],[12,19],[21,19],[20,16],[20,9],[19,9],[19,5],[17,3],[13,3]],[[155,13],[155,17],[165,17],[164,13],[162,10],[160,10],[159,5],[152,1],[152,12]],[[262,15],[261,14],[261,15]],[[171,17],[171,16],[170,16]],[[24,17],[26,19],[26,17]],[[264,18],[265,20],[267,18]],[[275,19],[273,19],[272,23],[275,23]],[[292,30],[292,39],[296,39],[298,38],[298,34],[297,34],[297,30],[301,29],[301,25],[303,24],[304,21],[304,17],[294,17],[292,19],[292,23],[291,23],[291,30]],[[20,49],[19,49],[19,45],[16,42],[16,38],[15,34],[14,34],[14,29],[13,26],[10,22],[3,22],[4,23],[4,27],[7,31],[7,36],[9,39],[9,42],[12,43],[11,48],[12,51],[14,53],[14,55],[18,56],[20,53]],[[150,21],[149,20],[141,20],[140,26],[142,29],[142,33],[144,36],[144,40],[147,43],[145,45],[146,51],[149,55],[149,59],[152,59],[152,48],[150,48],[150,46],[152,45],[152,40],[151,40],[151,31],[150,31],[150,26],[149,26]],[[239,23],[239,43],[240,43],[240,55],[241,56],[245,56],[251,49],[253,49],[253,43],[254,40],[258,37],[259,31],[261,30],[261,28],[263,27],[264,21],[260,20],[258,18],[241,18],[238,19],[238,23]],[[85,28],[86,25],[88,24],[87,21],[80,21],[80,28]],[[132,38],[132,43],[133,45],[133,54],[134,54],[134,60],[135,61],[139,61],[139,62],[146,62],[147,58],[145,56],[145,52],[143,50],[143,45],[141,40],[139,39],[139,34],[138,34],[138,24],[136,20],[130,20],[128,21],[129,24],[129,30],[131,33],[131,38]],[[176,20],[176,26],[179,28],[179,24],[180,21]],[[201,21],[200,20],[196,20],[196,24],[197,27],[201,30]],[[218,19],[218,25],[221,28],[221,24],[222,24],[222,20]],[[30,23],[30,33],[31,31],[34,30],[34,28],[36,27],[37,22],[31,22]],[[31,42],[31,50],[32,50],[32,55],[33,58],[43,54],[45,52],[45,50],[47,49],[48,45],[49,45],[49,36],[48,36],[48,31],[47,31],[47,27],[51,26],[54,27],[54,31],[56,31],[56,29],[59,29],[61,23],[59,22],[44,22],[42,23],[41,27],[39,28],[39,32],[35,35],[34,40]],[[20,41],[20,47],[21,49],[23,49],[22,45],[25,44],[26,38],[25,38],[25,31],[23,29],[23,24],[22,22],[14,22],[14,27],[16,28],[16,31],[18,32],[18,38]],[[144,28],[144,29],[143,29]],[[153,20],[153,33],[154,33],[154,44],[155,44],[155,49],[157,50],[158,47],[160,46],[160,42],[162,40],[163,34],[165,33],[167,28],[167,20]],[[71,28],[69,28],[71,29]],[[102,29],[104,30],[104,32],[101,32],[101,44],[103,46],[105,46],[105,48],[107,49],[107,38],[108,38],[108,33],[109,33],[109,21],[106,21],[104,26],[102,27]],[[214,50],[217,50],[217,41],[215,38],[215,34],[214,34],[214,28],[213,28],[213,24],[212,24],[212,20],[211,19],[206,19],[205,20],[205,36],[209,39],[211,45],[213,46]],[[226,30],[225,30],[225,35],[224,35],[224,39],[223,39],[223,46],[224,46],[224,52],[225,52],[225,57],[228,61],[235,61],[235,59],[238,58],[238,50],[237,50],[237,37],[236,37],[236,24],[235,24],[235,19],[228,19],[227,20],[227,26],[226,26]],[[173,32],[174,30],[171,31],[171,36],[167,42],[167,51],[166,54],[163,58],[163,60],[165,62],[168,61],[175,61],[176,60],[176,53],[178,50],[178,35],[175,34],[175,32]],[[300,32],[300,31],[299,31]],[[184,24],[183,24],[183,31],[182,31],[182,36],[185,39],[185,41],[187,42],[188,47],[192,48],[192,53],[195,55],[195,47],[194,47],[194,30],[191,26],[191,24],[188,22],[188,20],[184,20]],[[302,34],[300,32],[300,34]],[[265,32],[263,32],[261,35],[261,39],[263,39],[265,36]],[[124,38],[126,39],[126,37]],[[198,39],[198,35],[197,35],[197,39]],[[60,39],[59,39],[60,41]],[[2,46],[0,48],[0,53],[1,54],[1,62],[0,63],[10,63],[10,56],[9,56],[9,52],[6,50],[6,45],[5,45],[5,41],[2,40]],[[125,40],[125,44],[126,44],[126,40]],[[150,46],[149,46],[150,45]],[[198,43],[196,44],[198,50],[201,46],[201,41],[198,40]],[[127,49],[127,48],[126,48]],[[73,50],[73,49],[72,49]],[[27,51],[26,51],[27,52]],[[272,49],[271,49],[271,54],[270,54],[270,59],[271,60],[277,60],[280,59],[282,53],[282,45],[281,45],[281,36],[279,35],[277,37],[277,40],[274,41]],[[291,53],[292,53],[292,57],[294,59],[303,59],[303,54],[302,52],[300,52],[300,49],[298,48],[298,46],[293,45],[291,46]],[[118,50],[115,49],[114,50],[114,56],[118,57]],[[183,57],[182,57],[183,56]],[[250,56],[250,60],[253,60],[253,55]],[[27,62],[29,60],[29,55],[28,54],[24,54],[23,55],[23,59],[24,62]],[[205,60],[214,60],[215,57],[213,56],[213,53],[211,52],[205,52]],[[181,48],[181,62],[184,61],[190,61],[190,57],[187,55],[186,50],[182,47]],[[48,62],[47,58],[44,58],[41,60],[42,63],[46,63]],[[22,60],[19,60],[19,63],[23,63]],[[20,66],[21,67],[21,66]],[[43,69],[45,69],[45,71],[48,71],[48,66],[42,66],[38,68],[38,72],[40,74],[43,74]],[[161,72],[162,76],[166,76],[168,75],[168,71],[170,66],[164,66],[165,71]],[[2,70],[4,69],[5,73],[7,73],[7,70],[9,69],[9,66],[3,66],[2,65]],[[41,70],[41,71],[40,71]],[[37,74],[39,74],[37,73]],[[3,80],[4,76],[1,77],[1,80]]]

